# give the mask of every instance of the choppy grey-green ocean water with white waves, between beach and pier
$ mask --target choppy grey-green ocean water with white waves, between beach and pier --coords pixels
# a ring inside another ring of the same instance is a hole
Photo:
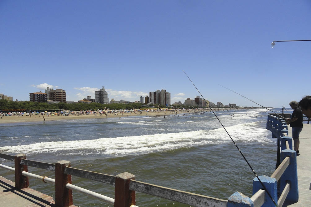
[[[279,109],[272,109],[279,113]],[[217,111],[216,115],[258,176],[270,176],[276,163],[276,139],[266,130],[265,108]],[[124,117],[9,123],[0,126],[0,152],[23,153],[27,159],[117,175],[220,199],[234,192],[252,196],[255,177],[232,140],[211,112],[163,117]],[[0,163],[14,167],[12,161]],[[30,173],[55,178],[52,171],[29,167]],[[0,175],[14,175],[0,168]],[[54,196],[51,183],[30,179],[30,187]],[[114,197],[114,186],[72,177],[72,183]],[[74,205],[112,206],[78,192]],[[138,206],[188,206],[136,193]]]

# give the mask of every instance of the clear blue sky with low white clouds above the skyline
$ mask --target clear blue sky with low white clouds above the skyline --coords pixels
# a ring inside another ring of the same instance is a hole
[[[289,107],[310,95],[311,1],[0,1],[0,93]]]

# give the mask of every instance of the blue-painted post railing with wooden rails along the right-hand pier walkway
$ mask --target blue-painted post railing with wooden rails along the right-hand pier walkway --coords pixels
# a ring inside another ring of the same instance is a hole
[[[277,151],[280,152],[280,163],[275,172],[270,176],[259,176],[259,179],[276,202],[282,206],[284,202],[298,202],[298,174],[296,151],[293,150],[293,140],[288,137],[288,128],[282,118],[268,115],[267,129],[272,132],[272,137],[278,139]],[[277,182],[280,182],[278,189]],[[228,199],[228,207],[236,206],[275,206],[267,192],[262,190],[262,184],[257,177],[253,179],[253,196],[249,198],[240,192],[235,192]],[[278,197],[278,192],[280,196]]]

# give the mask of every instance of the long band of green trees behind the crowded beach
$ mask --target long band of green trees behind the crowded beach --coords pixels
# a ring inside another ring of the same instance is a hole
[[[100,104],[100,103],[75,103],[75,104],[66,104],[66,103],[57,103],[57,104],[48,104],[48,103],[38,103],[30,101],[8,101],[0,99],[0,110],[18,110],[18,109],[66,109],[70,111],[80,111],[80,110],[97,110],[97,109],[133,109],[133,108],[149,108],[142,106],[141,103],[130,103],[130,104]],[[151,106],[154,106],[151,104]],[[165,106],[155,106],[155,108]]]

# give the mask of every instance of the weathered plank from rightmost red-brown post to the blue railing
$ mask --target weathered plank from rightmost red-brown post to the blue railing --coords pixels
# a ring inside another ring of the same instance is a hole
[[[130,190],[138,191],[141,193],[146,193],[149,195],[154,195],[157,197],[174,200],[180,203],[196,206],[196,207],[206,207],[206,206],[227,206],[227,200],[222,200],[218,198],[209,197],[206,195],[199,195],[195,193],[190,193],[186,191],[179,191],[172,188],[166,188],[163,186],[156,186],[145,182],[140,182],[136,180],[131,180]]]

